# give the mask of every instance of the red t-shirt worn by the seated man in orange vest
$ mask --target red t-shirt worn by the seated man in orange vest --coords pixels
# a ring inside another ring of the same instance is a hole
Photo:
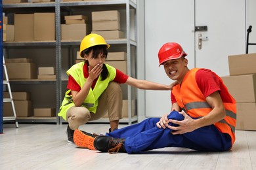
[[[232,99],[229,97],[228,91],[224,88],[224,84],[221,83],[218,76],[213,71],[209,69],[199,69],[198,72],[196,72],[196,82],[205,98],[211,95],[211,93],[219,91],[224,103],[232,103]],[[171,103],[176,102],[173,93],[171,93]]]

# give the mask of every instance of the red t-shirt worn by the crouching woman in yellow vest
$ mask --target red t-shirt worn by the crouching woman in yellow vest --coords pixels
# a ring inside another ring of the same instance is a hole
[[[88,68],[87,63],[85,63],[85,65],[83,65],[83,75],[85,76],[85,78],[88,78],[88,76],[89,76],[89,72],[88,72],[87,68]],[[123,84],[127,81],[128,77],[129,76],[125,75],[123,72],[116,69],[116,77],[114,78],[113,81]],[[97,80],[98,80],[98,78],[95,78],[95,80],[93,80],[93,84],[91,86],[92,89],[95,87]],[[77,84],[77,82],[71,75],[68,77],[67,88],[70,90],[77,91],[77,92],[79,92],[81,90],[79,84]]]

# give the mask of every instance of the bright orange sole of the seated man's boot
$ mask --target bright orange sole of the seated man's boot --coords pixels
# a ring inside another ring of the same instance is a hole
[[[89,148],[91,150],[96,150],[93,145],[95,141],[94,137],[85,135],[82,131],[75,129],[74,132],[74,143],[81,148]]]

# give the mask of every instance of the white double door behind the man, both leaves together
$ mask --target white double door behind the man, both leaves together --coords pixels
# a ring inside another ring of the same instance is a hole
[[[182,45],[190,69],[228,75],[228,55],[245,53],[245,0],[145,1],[146,80],[173,82],[158,67],[158,50],[171,41]],[[147,117],[162,116],[170,108],[170,92],[146,91]]]

